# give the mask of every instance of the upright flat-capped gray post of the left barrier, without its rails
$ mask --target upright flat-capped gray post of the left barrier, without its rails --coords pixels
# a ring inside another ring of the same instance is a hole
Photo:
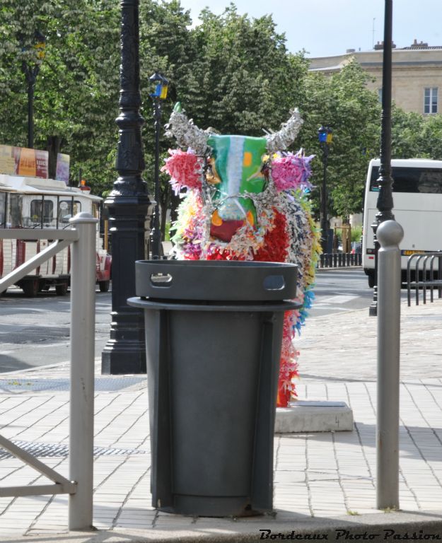
[[[95,349],[95,225],[88,213],[69,221],[78,230],[71,246],[71,413],[69,530],[88,530],[93,515],[93,397]]]

